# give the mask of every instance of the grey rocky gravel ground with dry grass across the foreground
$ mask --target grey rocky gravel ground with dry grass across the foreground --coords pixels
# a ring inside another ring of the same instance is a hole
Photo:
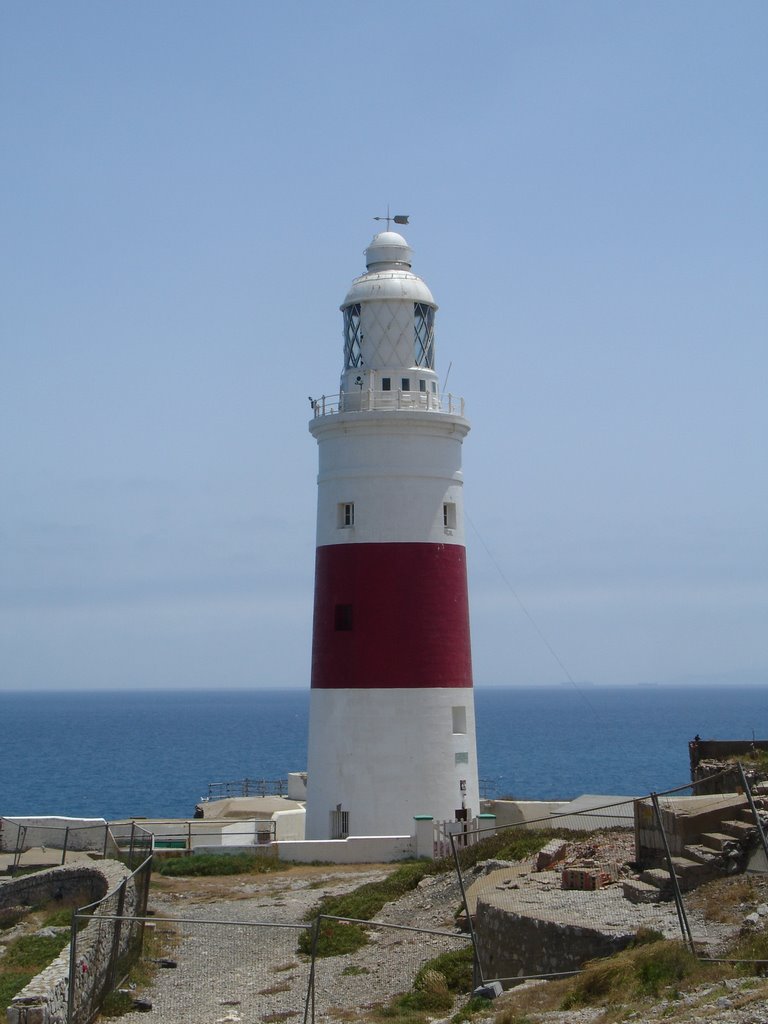
[[[157,930],[166,927],[164,918],[184,919],[189,924],[174,926],[177,945],[169,955],[177,967],[158,971],[146,992],[152,1015],[163,1024],[300,1024],[308,965],[295,951],[297,931],[253,923],[300,926],[306,910],[322,896],[381,879],[388,870],[384,865],[324,866],[234,879],[159,880],[151,898]],[[454,928],[460,900],[453,874],[427,878],[413,893],[382,910],[377,919],[381,927],[368,946],[317,961],[315,1020],[365,1019],[373,1006],[407,991],[425,958],[466,942]],[[403,927],[440,934],[401,931]],[[502,996],[495,1011],[506,1011],[506,1024],[523,1020],[526,1024],[598,1024],[601,1020],[600,1010],[538,1008],[539,991],[547,987],[527,983]],[[139,1020],[146,1024],[151,1019],[138,1013],[123,1018],[126,1024]],[[768,1024],[768,983],[745,979],[703,986],[674,1002],[648,1005],[631,1019],[633,1024],[710,1020]]]

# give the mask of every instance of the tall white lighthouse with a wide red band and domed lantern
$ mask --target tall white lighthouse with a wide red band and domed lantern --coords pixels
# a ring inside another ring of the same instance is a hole
[[[389,226],[389,224],[387,224]],[[312,399],[317,548],[307,839],[410,836],[479,811],[464,545],[463,399],[437,305],[395,231],[341,305],[338,395]]]

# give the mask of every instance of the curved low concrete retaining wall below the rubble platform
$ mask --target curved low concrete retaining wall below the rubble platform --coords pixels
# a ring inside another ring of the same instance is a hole
[[[475,936],[487,980],[578,971],[586,961],[610,956],[634,938],[632,933],[605,935],[592,928],[523,916],[479,899]]]

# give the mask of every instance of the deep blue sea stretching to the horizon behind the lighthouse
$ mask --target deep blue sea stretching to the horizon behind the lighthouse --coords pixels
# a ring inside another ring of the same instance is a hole
[[[481,788],[566,801],[683,786],[694,735],[768,738],[767,697],[755,685],[477,687]],[[0,815],[190,817],[210,783],[304,770],[308,711],[305,689],[0,691]]]

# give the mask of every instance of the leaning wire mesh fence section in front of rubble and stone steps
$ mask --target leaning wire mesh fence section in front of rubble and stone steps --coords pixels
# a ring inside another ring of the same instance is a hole
[[[539,820],[452,836],[481,981],[575,973],[640,930],[716,956],[744,915],[713,920],[696,888],[768,870],[768,813],[746,779],[742,788],[695,802],[681,799],[690,785],[603,806],[586,800]],[[531,831],[545,834],[543,849]],[[472,845],[479,838],[488,842]],[[757,891],[765,902],[768,888]]]

